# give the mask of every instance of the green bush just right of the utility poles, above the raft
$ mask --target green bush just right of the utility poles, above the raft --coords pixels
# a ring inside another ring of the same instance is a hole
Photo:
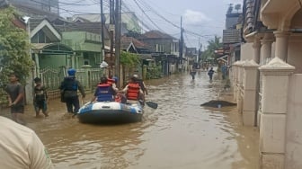
[[[121,51],[120,64],[124,67],[137,67],[140,64],[140,59],[137,54]]]

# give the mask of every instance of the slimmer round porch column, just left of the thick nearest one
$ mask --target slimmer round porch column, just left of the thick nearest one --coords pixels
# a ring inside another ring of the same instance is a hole
[[[273,42],[273,36],[271,33],[266,33],[260,41],[262,44],[260,65],[265,65],[267,64],[268,58],[271,58],[271,44]]]

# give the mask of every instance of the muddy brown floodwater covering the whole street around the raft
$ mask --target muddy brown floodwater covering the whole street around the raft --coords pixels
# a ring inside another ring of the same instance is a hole
[[[65,105],[49,102],[49,118],[35,119],[28,108],[27,126],[49,149],[58,169],[256,169],[259,132],[242,125],[235,107],[204,108],[217,100],[218,81],[206,72],[147,81],[141,122],[82,124],[63,116]],[[87,97],[86,100],[90,100]]]

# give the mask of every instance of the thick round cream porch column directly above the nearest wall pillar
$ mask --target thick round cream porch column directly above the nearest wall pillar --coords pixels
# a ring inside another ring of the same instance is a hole
[[[288,58],[289,34],[289,31],[274,31],[276,37],[275,57],[285,62]]]

